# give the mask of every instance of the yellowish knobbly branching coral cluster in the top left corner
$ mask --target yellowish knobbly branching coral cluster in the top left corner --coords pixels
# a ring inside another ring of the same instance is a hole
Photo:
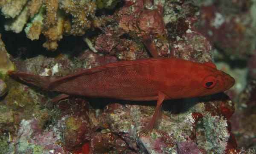
[[[56,50],[63,35],[81,36],[100,25],[95,0],[0,0],[0,8],[6,18],[12,18],[4,25],[6,31],[20,33],[26,25],[29,39],[44,34],[47,50]]]

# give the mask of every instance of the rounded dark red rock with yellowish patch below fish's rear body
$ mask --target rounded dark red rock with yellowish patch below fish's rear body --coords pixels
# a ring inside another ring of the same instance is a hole
[[[72,105],[68,105],[68,101],[57,104],[55,113],[57,128],[63,134],[63,146],[67,150],[88,142],[93,130],[89,118],[89,104],[81,99],[70,101]]]

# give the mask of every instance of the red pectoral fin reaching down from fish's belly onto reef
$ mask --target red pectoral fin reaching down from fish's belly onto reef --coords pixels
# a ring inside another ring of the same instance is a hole
[[[143,129],[141,129],[138,132],[139,137],[148,134],[154,129],[155,126],[157,126],[157,124],[159,123],[163,115],[163,107],[162,107],[163,100],[167,97],[168,96],[165,95],[163,92],[160,92],[160,91],[158,92],[157,107],[155,109],[154,115],[149,121],[149,123],[147,124],[147,126],[145,126]]]

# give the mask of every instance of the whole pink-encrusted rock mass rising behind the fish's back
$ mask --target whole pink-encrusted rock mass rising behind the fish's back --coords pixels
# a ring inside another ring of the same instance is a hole
[[[148,43],[155,46],[158,56],[199,62],[212,60],[211,42],[193,28],[198,20],[195,15],[197,7],[192,3],[166,2],[148,10],[144,9],[145,5],[142,0],[128,0],[113,16],[102,18],[104,34],[96,38],[96,50],[116,55],[120,60],[145,58],[147,53],[143,46],[147,44],[144,42],[145,36],[149,36],[151,42]],[[172,7],[176,5],[180,7],[180,14],[172,14],[175,12]],[[172,16],[180,17],[167,20]]]

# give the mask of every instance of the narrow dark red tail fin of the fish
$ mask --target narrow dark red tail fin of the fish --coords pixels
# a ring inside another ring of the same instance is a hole
[[[48,90],[49,83],[52,80],[51,76],[37,76],[27,73],[18,73],[15,71],[8,71],[7,73],[9,74],[9,76],[19,78],[20,80],[28,84],[32,84],[36,87],[40,87],[46,90]]]

